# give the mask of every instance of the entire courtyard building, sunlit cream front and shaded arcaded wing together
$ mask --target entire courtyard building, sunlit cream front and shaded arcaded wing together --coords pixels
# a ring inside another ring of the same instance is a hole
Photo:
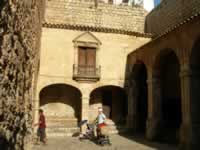
[[[149,14],[136,6],[47,1],[35,122],[42,108],[48,134],[65,136],[103,106],[113,128],[197,150],[199,9],[198,0],[163,0]]]

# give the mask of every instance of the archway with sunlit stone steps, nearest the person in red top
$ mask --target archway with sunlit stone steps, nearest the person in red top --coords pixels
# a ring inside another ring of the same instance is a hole
[[[40,108],[44,110],[47,127],[58,134],[78,126],[81,116],[81,92],[67,84],[53,84],[40,92]],[[62,129],[62,131],[61,131]],[[66,133],[69,134],[69,133]]]

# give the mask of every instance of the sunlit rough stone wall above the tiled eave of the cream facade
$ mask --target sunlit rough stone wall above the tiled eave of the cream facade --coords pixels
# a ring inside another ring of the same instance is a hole
[[[117,6],[92,1],[47,1],[45,21],[49,24],[68,24],[95,28],[112,28],[144,33],[147,12],[142,7]]]

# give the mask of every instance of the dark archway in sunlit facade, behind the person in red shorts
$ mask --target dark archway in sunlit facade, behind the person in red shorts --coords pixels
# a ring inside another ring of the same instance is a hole
[[[116,126],[125,126],[127,116],[127,96],[125,90],[117,86],[103,86],[90,94],[90,120],[97,116],[98,107]]]

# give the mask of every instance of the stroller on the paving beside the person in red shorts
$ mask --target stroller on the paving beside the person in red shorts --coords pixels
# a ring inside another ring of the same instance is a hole
[[[96,130],[96,122],[89,124],[87,120],[83,120],[80,122],[79,126],[86,125],[87,130],[84,134],[80,134],[79,139],[80,140],[91,140],[94,143],[105,146],[105,145],[111,145],[110,139],[108,135],[97,135],[95,136],[95,130]]]

